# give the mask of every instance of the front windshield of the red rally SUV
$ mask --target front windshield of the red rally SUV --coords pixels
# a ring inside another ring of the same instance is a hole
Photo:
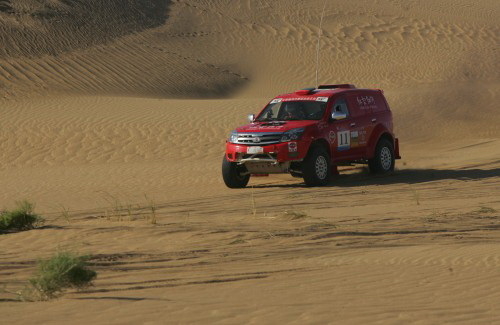
[[[321,120],[325,108],[326,103],[318,101],[271,102],[256,121]]]

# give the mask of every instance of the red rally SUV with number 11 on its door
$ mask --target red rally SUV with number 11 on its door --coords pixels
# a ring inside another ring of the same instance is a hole
[[[231,132],[222,161],[230,188],[251,175],[290,173],[308,186],[328,184],[337,166],[367,163],[373,173],[400,159],[392,113],[379,89],[322,85],[280,95],[250,124]]]

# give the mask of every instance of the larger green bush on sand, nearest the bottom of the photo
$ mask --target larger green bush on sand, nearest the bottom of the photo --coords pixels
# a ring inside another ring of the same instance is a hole
[[[87,268],[88,259],[88,256],[61,252],[39,261],[38,270],[30,279],[36,298],[48,300],[67,288],[82,289],[91,285],[97,273]]]

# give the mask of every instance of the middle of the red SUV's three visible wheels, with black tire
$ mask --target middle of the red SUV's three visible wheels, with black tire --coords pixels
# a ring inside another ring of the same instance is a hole
[[[330,181],[330,176],[330,155],[323,147],[312,147],[302,162],[304,182],[307,186],[325,186]]]

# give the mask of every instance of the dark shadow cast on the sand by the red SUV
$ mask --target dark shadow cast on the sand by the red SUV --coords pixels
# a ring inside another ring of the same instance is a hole
[[[441,180],[480,180],[500,177],[500,168],[495,169],[401,169],[386,175],[371,175],[367,168],[354,173],[334,176],[326,187],[356,187],[389,184],[418,184]],[[297,188],[297,184],[261,184],[254,188]]]

